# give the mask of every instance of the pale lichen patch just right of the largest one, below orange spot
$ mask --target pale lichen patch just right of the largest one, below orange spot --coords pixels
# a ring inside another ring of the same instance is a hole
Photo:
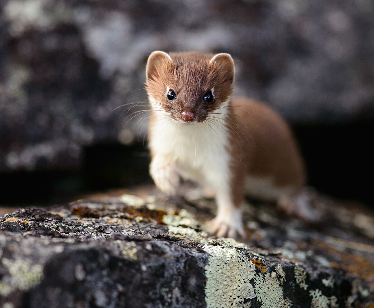
[[[291,301],[283,298],[283,290],[275,272],[266,275],[257,275],[255,281],[255,293],[257,300],[263,308],[291,307]]]

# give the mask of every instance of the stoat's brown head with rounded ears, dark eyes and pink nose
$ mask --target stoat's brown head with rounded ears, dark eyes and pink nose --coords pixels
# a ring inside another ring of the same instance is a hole
[[[228,53],[155,51],[148,57],[145,86],[154,110],[181,123],[202,122],[210,113],[225,113],[234,73]]]

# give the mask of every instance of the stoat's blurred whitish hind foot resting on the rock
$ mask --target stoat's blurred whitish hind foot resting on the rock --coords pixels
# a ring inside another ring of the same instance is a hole
[[[285,211],[288,215],[294,215],[309,222],[316,222],[320,218],[310,203],[310,197],[306,189],[291,196],[283,195],[279,197],[277,205],[279,209]]]

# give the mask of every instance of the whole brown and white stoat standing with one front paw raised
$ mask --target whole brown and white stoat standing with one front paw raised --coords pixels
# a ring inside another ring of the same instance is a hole
[[[304,163],[291,130],[269,106],[232,98],[229,54],[155,51],[145,73],[150,174],[162,192],[174,195],[180,178],[212,190],[218,210],[211,228],[218,236],[245,237],[245,194],[308,218],[299,202]]]

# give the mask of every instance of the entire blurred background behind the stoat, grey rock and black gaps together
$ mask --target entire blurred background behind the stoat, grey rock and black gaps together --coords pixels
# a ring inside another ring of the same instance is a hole
[[[0,204],[150,181],[131,103],[153,50],[230,53],[236,93],[292,124],[309,183],[373,204],[371,0],[0,0]]]

